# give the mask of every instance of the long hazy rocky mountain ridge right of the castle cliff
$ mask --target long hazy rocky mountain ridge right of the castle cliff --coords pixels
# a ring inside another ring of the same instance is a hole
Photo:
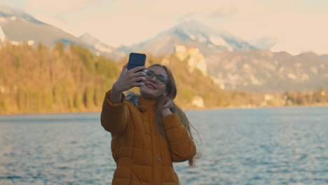
[[[261,92],[328,87],[328,59],[315,53],[221,52],[206,58],[208,75],[228,89]]]

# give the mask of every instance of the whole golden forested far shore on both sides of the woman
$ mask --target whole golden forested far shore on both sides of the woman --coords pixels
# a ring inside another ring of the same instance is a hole
[[[128,61],[128,57],[109,60],[63,43],[54,48],[7,43],[1,46],[0,57],[0,114],[100,111],[104,94]],[[146,66],[162,63],[172,69],[178,88],[175,102],[183,109],[328,102],[324,89],[271,95],[221,90],[197,69],[191,72],[187,60],[149,54],[146,60]],[[137,88],[132,90],[138,92]]]

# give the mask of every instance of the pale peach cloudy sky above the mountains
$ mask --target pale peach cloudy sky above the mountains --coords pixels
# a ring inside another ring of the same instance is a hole
[[[327,0],[0,0],[34,18],[109,46],[151,39],[179,22],[197,20],[250,43],[292,55],[328,54]]]

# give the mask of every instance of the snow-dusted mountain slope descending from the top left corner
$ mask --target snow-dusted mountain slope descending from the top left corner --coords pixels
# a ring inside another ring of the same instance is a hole
[[[91,39],[92,38],[92,39]],[[90,34],[76,37],[62,29],[36,20],[32,15],[16,8],[0,5],[0,41],[10,41],[13,44],[28,43],[36,45],[43,43],[51,47],[58,41],[72,43],[92,50],[97,55],[105,55],[114,60],[121,58],[118,52]]]

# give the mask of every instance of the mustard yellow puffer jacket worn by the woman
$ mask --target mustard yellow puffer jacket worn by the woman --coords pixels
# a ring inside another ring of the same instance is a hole
[[[110,91],[102,107],[101,123],[111,132],[111,151],[116,162],[112,184],[179,184],[172,162],[182,162],[196,154],[196,146],[176,114],[163,118],[168,135],[156,129],[153,100],[139,97],[138,106],[123,100],[112,103]]]

